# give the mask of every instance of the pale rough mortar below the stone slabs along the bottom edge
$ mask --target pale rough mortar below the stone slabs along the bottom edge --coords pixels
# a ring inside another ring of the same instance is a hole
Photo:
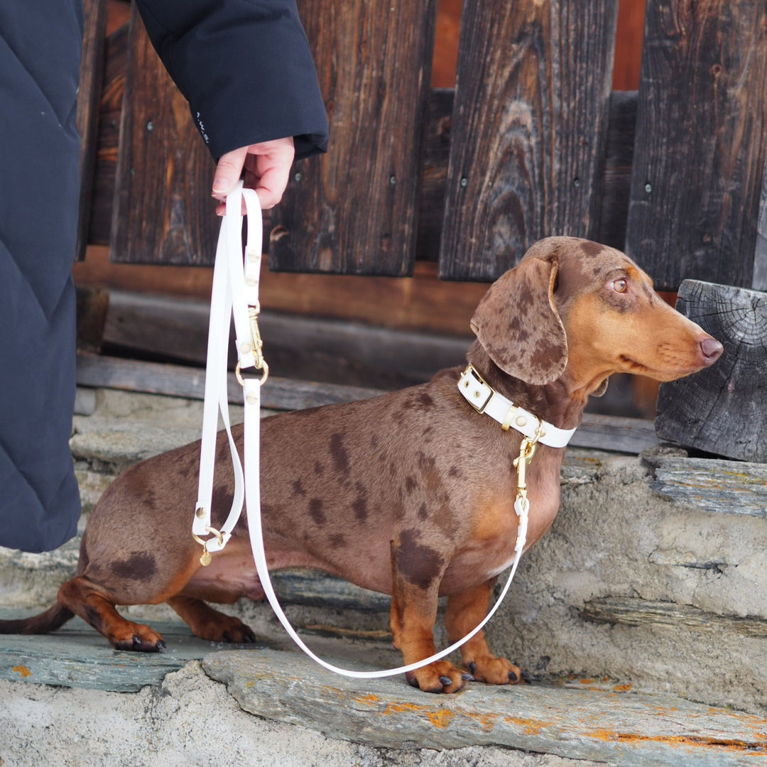
[[[189,663],[138,693],[0,680],[2,767],[596,767],[496,747],[377,749],[240,709]]]

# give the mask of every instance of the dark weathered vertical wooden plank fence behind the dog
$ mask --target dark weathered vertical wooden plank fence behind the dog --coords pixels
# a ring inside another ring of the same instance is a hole
[[[617,0],[464,0],[456,87],[439,91],[436,0],[300,7],[331,145],[295,166],[272,269],[428,259],[486,281],[568,234],[624,249],[658,288],[767,289],[763,0],[647,0],[638,93],[611,92]],[[112,258],[208,264],[212,164],[135,14],[126,67]],[[104,239],[98,211],[90,232]]]

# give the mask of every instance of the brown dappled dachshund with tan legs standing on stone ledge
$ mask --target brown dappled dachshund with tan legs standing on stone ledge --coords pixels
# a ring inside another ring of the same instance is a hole
[[[673,380],[719,357],[722,345],[665,304],[650,279],[617,250],[552,237],[489,288],[472,318],[468,360],[509,400],[562,429],[581,421],[590,394],[616,372]],[[372,400],[284,413],[262,422],[262,507],[269,567],[311,567],[392,595],[391,629],[404,663],[435,651],[437,598],[459,640],[482,620],[495,578],[514,556],[522,435],[502,430],[459,393],[461,370]],[[236,433],[242,439],[242,430]],[[527,548],[559,506],[564,449],[539,445],[527,470]],[[232,499],[228,446],[213,490],[213,525]],[[77,574],[48,611],[0,622],[3,633],[44,633],[82,617],[121,650],[165,647],[115,604],[166,601],[213,641],[255,638],[206,601],[262,599],[245,518],[212,564],[190,526],[199,443],[133,466],[115,479],[87,523]],[[452,693],[466,680],[506,684],[522,672],[495,657],[479,632],[462,647],[463,669],[431,663],[408,680]],[[469,676],[469,672],[470,676]]]

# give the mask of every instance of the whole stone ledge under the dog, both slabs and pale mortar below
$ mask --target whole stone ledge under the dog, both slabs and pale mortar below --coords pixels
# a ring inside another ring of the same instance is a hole
[[[401,675],[338,676],[287,645],[278,649],[279,642],[225,649],[189,637],[180,624],[162,624],[165,653],[125,653],[110,650],[84,624],[73,624],[54,637],[4,637],[0,643],[0,759],[8,765],[198,764],[203,762],[191,754],[211,738],[219,739],[219,751],[206,756],[211,765],[231,765],[248,749],[258,753],[260,764],[298,765],[309,763],[309,755],[303,762],[298,755],[286,758],[285,742],[305,742],[307,731],[314,732],[310,761],[318,767],[343,764],[336,756],[348,758],[351,746],[344,742],[357,744],[354,753],[367,759],[346,764],[425,763],[414,759],[414,752],[426,754],[423,749],[439,749],[440,765],[479,763],[480,754],[482,764],[520,767],[767,763],[767,719],[678,696],[631,693],[591,680],[469,683],[462,693],[434,696],[408,686]],[[316,644],[328,653],[327,642]],[[398,663],[397,653],[371,651],[370,643],[336,643],[334,649],[341,657],[330,660],[353,670]],[[242,712],[255,716],[243,719]],[[140,732],[126,739],[124,732],[142,720]],[[270,737],[232,752],[236,736],[225,733],[253,732],[264,723]],[[179,739],[163,740],[174,726],[181,727],[183,746]],[[47,749],[48,759],[29,751],[30,742],[39,749],[51,735],[58,739],[54,749],[64,742],[87,757],[57,761]],[[179,749],[186,759],[179,761]],[[167,761],[171,754],[175,758]],[[492,761],[497,755],[503,761]]]

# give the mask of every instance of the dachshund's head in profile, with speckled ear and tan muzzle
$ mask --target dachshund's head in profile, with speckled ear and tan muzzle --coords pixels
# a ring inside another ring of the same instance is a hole
[[[510,376],[542,385],[567,371],[595,395],[613,373],[673,380],[713,364],[723,348],[666,304],[627,255],[574,237],[532,245],[491,285],[471,327]]]

